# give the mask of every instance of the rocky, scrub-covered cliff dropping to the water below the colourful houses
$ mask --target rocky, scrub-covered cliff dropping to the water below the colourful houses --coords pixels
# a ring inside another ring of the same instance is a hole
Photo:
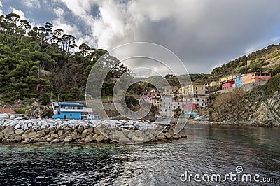
[[[218,95],[209,108],[209,119],[214,122],[280,127],[280,92],[275,91],[272,96],[267,96],[264,87],[258,87],[247,94],[239,90]]]

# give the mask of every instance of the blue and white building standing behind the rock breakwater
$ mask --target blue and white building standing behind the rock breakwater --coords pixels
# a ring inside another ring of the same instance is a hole
[[[52,119],[92,119],[98,120],[98,115],[86,108],[83,103],[52,102]]]

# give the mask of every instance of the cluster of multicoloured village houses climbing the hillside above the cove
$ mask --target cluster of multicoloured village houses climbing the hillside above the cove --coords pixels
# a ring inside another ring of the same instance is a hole
[[[271,73],[247,73],[224,76],[211,83],[190,83],[183,87],[162,87],[162,95],[157,90],[146,90],[144,96],[158,109],[155,117],[200,117],[199,110],[207,108],[210,94],[232,92],[242,88],[247,92],[258,85],[264,85]],[[211,87],[221,86],[221,90],[210,92]]]

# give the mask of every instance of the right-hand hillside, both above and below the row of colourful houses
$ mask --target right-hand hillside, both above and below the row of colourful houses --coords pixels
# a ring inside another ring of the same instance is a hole
[[[255,71],[272,73],[272,78],[266,85],[255,87],[251,92],[235,90],[212,96],[214,99],[208,108],[210,120],[262,127],[280,126],[280,45],[269,45],[247,57],[223,64],[214,69],[211,76],[218,80],[232,73]]]

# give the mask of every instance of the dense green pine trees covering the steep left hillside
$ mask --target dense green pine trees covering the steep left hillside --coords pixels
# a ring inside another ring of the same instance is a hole
[[[0,99],[52,98],[70,101],[84,99],[87,76],[106,50],[94,50],[83,43],[78,52],[76,37],[65,34],[50,22],[33,27],[15,13],[0,16]],[[118,59],[110,66],[103,94],[112,94],[114,78],[127,71]],[[103,67],[102,67],[103,68]],[[102,71],[102,69],[101,69]]]

